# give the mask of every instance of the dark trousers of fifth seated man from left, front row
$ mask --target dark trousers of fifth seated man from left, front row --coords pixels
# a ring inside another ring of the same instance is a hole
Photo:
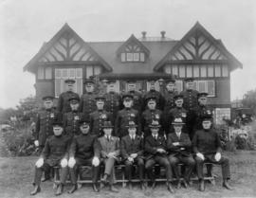
[[[163,166],[165,168],[167,182],[170,182],[172,180],[172,168],[166,156],[156,155],[146,161],[145,169],[147,171],[149,179],[155,181],[155,175],[153,174],[153,167],[155,163],[158,163],[160,166]]]

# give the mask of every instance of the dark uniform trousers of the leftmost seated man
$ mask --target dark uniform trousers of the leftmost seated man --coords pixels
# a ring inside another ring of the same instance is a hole
[[[59,165],[60,163],[57,163],[55,164],[56,166]],[[54,166],[55,166],[54,165]],[[41,184],[41,177],[42,177],[42,174],[43,174],[43,171],[47,172],[50,170],[50,168],[53,168],[54,166],[51,166],[49,165],[47,162],[44,162],[43,166],[38,168],[36,167],[35,168],[35,177],[34,177],[34,182],[33,184],[34,185],[38,185],[40,186]],[[68,174],[68,168],[67,166],[66,167],[61,167],[61,172],[60,172],[60,181],[61,181],[61,184],[64,184],[65,183],[65,180],[66,180],[66,176]]]

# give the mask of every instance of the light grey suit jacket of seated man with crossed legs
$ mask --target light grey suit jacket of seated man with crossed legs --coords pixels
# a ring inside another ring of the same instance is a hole
[[[99,139],[100,148],[101,148],[101,157],[107,158],[108,153],[116,153],[116,156],[119,156],[119,137],[111,136],[108,140],[105,135],[101,136]]]

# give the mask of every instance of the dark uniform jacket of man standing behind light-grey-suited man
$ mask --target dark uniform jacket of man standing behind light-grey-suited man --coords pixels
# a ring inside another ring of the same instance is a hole
[[[104,121],[113,122],[112,115],[105,110],[96,110],[90,114],[90,129],[92,135],[102,135],[102,126]]]

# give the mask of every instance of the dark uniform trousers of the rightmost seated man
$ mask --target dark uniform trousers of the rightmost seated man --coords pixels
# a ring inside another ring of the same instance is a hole
[[[205,154],[204,156],[205,156],[205,160],[199,158],[198,156],[195,157],[196,171],[197,171],[198,179],[204,178],[203,166],[204,166],[204,163],[206,163],[206,162],[221,165],[223,179],[230,178],[230,169],[229,169],[229,159],[228,158],[222,156],[219,161],[216,161],[214,159],[214,154],[208,154],[208,155]]]

